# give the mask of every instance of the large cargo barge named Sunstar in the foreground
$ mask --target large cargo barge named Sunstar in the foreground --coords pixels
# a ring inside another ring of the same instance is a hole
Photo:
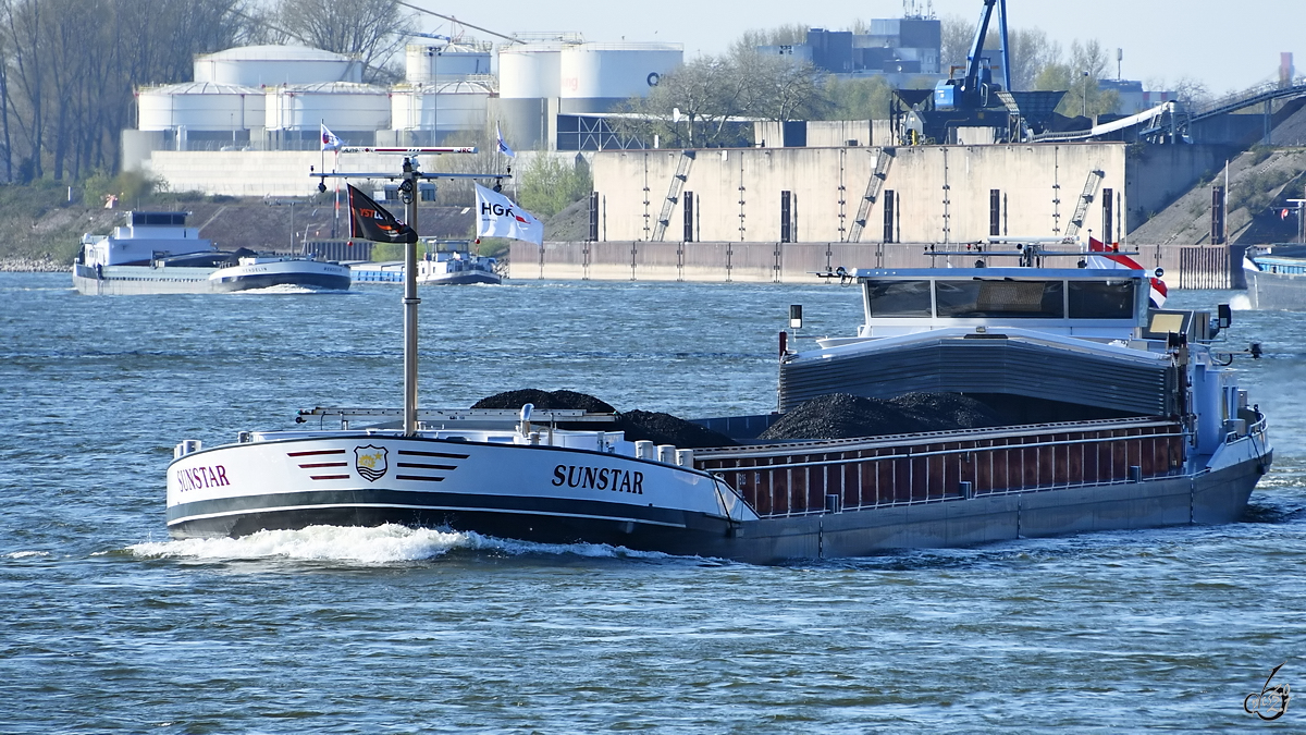
[[[1013,252],[1023,267],[987,267],[990,250],[983,267],[841,272],[866,322],[785,344],[781,411],[699,420],[729,437],[714,446],[658,445],[579,409],[316,408],[294,430],[178,445],[168,528],[404,523],[777,562],[1237,521],[1272,450],[1217,341],[1229,311],[1153,309],[1144,271]],[[832,394],[913,392],[1006,420],[777,433]]]

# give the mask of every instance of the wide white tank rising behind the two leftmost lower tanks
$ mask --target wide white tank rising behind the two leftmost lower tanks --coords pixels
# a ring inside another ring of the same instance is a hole
[[[240,46],[195,58],[195,81],[273,86],[363,81],[363,63],[307,46]]]

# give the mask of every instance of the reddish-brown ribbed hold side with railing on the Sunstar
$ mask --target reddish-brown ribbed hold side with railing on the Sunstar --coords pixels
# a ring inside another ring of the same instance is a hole
[[[718,455],[696,464],[768,518],[1179,476],[1186,446],[1178,424],[1153,422],[867,449],[789,446],[769,456]]]

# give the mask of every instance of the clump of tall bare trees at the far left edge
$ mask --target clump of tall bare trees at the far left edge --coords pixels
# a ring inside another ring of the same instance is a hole
[[[133,89],[188,78],[196,54],[248,38],[247,1],[0,0],[10,178],[112,170]]]

